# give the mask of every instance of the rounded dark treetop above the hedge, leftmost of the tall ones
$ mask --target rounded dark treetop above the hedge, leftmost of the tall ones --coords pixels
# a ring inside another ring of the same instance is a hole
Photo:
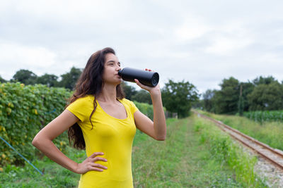
[[[30,70],[18,70],[15,75],[13,75],[13,79],[11,82],[21,82],[23,84],[35,84],[37,79],[37,75],[31,72]]]

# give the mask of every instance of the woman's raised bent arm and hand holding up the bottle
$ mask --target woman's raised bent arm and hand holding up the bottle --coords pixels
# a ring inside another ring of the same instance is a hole
[[[141,84],[138,80],[135,81],[139,85],[139,87],[149,91],[149,94],[151,95],[152,105],[154,106],[154,122],[152,122],[151,119],[149,119],[140,111],[136,111],[134,113],[134,121],[137,128],[156,140],[165,140],[166,119],[163,111],[159,84],[156,87],[147,87]]]

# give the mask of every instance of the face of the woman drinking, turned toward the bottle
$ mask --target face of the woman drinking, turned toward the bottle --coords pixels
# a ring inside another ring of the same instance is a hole
[[[108,53],[105,55],[105,63],[103,70],[103,81],[104,83],[109,84],[120,84],[122,82],[122,78],[118,75],[118,70],[120,70],[120,62],[112,53]]]

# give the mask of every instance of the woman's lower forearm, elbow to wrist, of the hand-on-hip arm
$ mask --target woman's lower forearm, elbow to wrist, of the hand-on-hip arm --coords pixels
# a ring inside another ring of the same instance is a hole
[[[62,151],[60,151],[50,139],[38,139],[35,137],[35,139],[33,139],[33,146],[39,149],[52,161],[76,173],[78,163],[65,156],[64,153],[62,153]]]

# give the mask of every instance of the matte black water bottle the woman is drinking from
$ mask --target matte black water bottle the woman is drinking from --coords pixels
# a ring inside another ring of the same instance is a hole
[[[122,77],[122,80],[134,82],[134,79],[137,79],[141,84],[150,87],[155,87],[159,81],[158,73],[135,68],[123,68],[122,70],[119,70],[118,75]]]

